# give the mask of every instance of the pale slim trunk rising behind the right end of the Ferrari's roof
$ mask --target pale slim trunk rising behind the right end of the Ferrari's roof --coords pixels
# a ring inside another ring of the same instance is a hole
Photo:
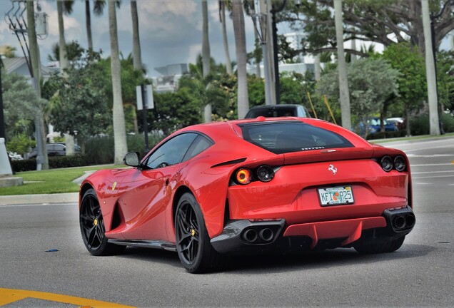
[[[350,130],[350,92],[348,91],[347,66],[343,51],[342,0],[334,0],[334,19],[338,45],[340,116],[342,118],[342,126]]]

